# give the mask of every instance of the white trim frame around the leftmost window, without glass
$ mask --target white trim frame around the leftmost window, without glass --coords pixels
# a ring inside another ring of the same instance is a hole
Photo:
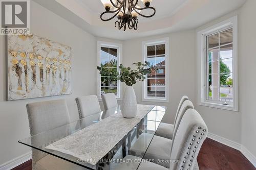
[[[119,67],[119,64],[122,62],[122,44],[121,43],[113,43],[113,42],[106,42],[106,41],[97,41],[97,65],[100,66],[100,50],[101,47],[112,47],[118,49],[118,56],[119,60],[117,62],[117,69]],[[117,89],[119,90],[118,96],[116,97],[117,100],[122,100],[122,86],[121,82],[117,81]],[[97,70],[97,96],[99,101],[102,101],[101,94],[100,94],[101,88],[100,88],[100,74],[99,70]]]

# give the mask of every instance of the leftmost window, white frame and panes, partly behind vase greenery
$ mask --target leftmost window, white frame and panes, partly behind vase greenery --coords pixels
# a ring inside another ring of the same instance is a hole
[[[114,93],[120,98],[120,81],[117,81],[120,63],[121,44],[98,41],[98,65],[103,75],[98,74],[98,97],[105,93]]]

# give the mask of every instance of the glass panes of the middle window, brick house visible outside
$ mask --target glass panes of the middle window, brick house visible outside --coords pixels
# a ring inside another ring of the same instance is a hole
[[[146,60],[158,68],[147,75],[147,97],[165,98],[165,44],[147,46]]]

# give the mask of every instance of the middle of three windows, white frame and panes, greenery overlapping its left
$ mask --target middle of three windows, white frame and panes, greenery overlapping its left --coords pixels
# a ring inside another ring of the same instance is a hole
[[[158,71],[151,72],[146,76],[143,83],[142,100],[152,102],[168,102],[168,56],[169,56],[169,38],[160,40],[144,41],[143,61],[148,61],[151,65],[156,66]]]

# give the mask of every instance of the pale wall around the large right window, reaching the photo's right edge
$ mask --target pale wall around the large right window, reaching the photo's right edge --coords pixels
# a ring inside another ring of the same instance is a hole
[[[254,159],[256,165],[256,114],[255,114],[255,46],[256,1],[247,0],[238,10],[207,23],[196,32],[238,15],[238,100],[239,111],[227,111],[196,105],[204,118],[209,132],[237,142],[242,152]],[[244,151],[246,148],[247,151]],[[247,153],[246,153],[247,152]],[[254,156],[253,156],[254,155]],[[248,156],[247,156],[248,158]]]

